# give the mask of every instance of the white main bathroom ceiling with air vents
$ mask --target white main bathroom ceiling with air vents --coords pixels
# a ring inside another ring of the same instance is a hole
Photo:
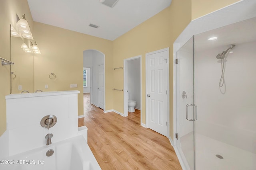
[[[34,21],[114,40],[170,6],[172,0],[28,0]],[[93,28],[92,23],[100,27]]]

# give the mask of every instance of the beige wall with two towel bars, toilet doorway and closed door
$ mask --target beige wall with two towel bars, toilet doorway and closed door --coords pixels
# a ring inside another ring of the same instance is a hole
[[[144,23],[128,31],[113,43],[113,67],[123,66],[123,60],[142,55],[142,123],[146,123],[146,101],[145,101],[145,54],[151,51],[170,48],[170,89],[172,89],[173,74],[173,43],[183,29],[191,21],[190,0],[172,0],[170,7],[156,14]],[[123,89],[123,70],[114,70],[114,88]],[[114,109],[124,112],[124,95],[122,92],[113,92]],[[170,122],[173,122],[172,114],[172,90],[170,91]],[[170,125],[170,136],[173,134],[173,127]]]

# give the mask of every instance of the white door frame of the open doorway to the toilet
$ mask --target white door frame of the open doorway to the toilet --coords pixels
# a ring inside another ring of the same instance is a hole
[[[124,59],[124,117],[128,116],[128,61],[140,59],[140,124],[142,125],[142,55]]]

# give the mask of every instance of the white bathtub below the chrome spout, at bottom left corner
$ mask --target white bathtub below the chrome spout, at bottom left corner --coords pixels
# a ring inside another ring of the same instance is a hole
[[[22,140],[22,139],[21,139]],[[18,145],[17,141],[17,145]],[[46,152],[53,149],[52,156]],[[1,158],[0,170],[100,170],[82,135]]]

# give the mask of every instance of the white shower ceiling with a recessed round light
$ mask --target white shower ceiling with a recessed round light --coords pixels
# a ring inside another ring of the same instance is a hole
[[[210,37],[218,39],[209,41]],[[194,39],[196,51],[220,48],[220,52],[233,44],[252,41],[256,41],[256,17],[197,34]],[[193,39],[184,44],[182,50],[193,51]]]

